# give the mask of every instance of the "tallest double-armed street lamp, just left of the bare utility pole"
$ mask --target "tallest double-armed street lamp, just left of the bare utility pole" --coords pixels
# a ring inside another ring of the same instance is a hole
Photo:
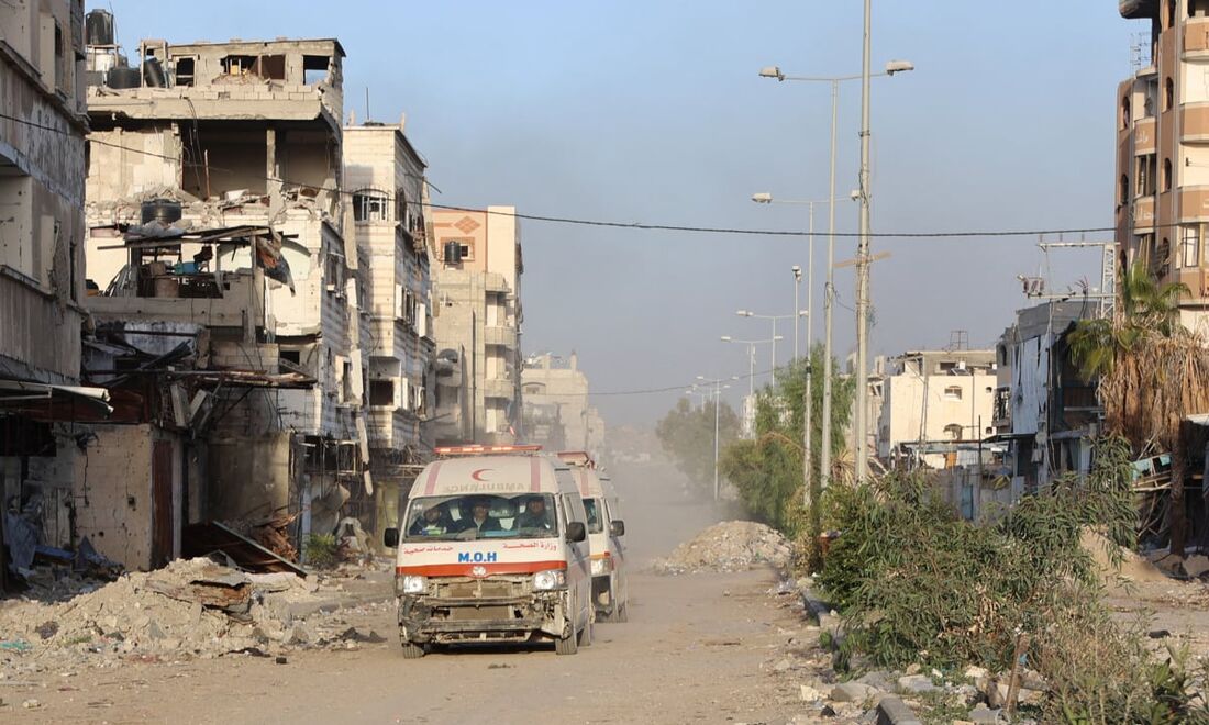
[[[866,0],[868,2],[868,0]],[[868,13],[867,13],[868,14]],[[868,35],[868,33],[866,33]],[[867,82],[867,77],[875,76],[893,76],[898,72],[907,72],[915,70],[915,66],[909,60],[891,60],[886,63],[886,68],[883,72],[869,74],[868,72],[868,50],[866,50],[864,62],[862,64],[861,75],[858,76],[796,76],[786,75],[781,72],[781,69],[770,65],[760,69],[760,77],[776,79],[779,82],[783,81],[802,81],[812,83],[831,83],[832,87],[832,118],[831,118],[831,178],[828,181],[828,204],[827,204],[827,284],[823,288],[823,410],[822,410],[822,433],[820,441],[820,456],[818,456],[818,469],[822,474],[822,483],[826,486],[831,478],[831,407],[832,407],[832,307],[835,297],[835,284],[833,277],[833,267],[835,261],[835,129],[837,120],[839,117],[839,85],[844,81],[855,81],[861,79],[862,82]],[[862,141],[867,140],[867,137],[862,137]],[[862,190],[863,196],[863,190]]]

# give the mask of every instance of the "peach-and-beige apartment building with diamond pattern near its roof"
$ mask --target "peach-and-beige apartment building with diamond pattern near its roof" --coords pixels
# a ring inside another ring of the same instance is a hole
[[[433,211],[438,442],[521,433],[521,240],[514,207]]]

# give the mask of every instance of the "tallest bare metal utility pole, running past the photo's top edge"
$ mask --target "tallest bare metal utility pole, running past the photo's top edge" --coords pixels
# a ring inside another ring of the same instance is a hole
[[[861,63],[861,225],[856,251],[856,448],[855,478],[868,471],[868,355],[869,355],[869,46],[873,0],[864,0],[864,44]]]

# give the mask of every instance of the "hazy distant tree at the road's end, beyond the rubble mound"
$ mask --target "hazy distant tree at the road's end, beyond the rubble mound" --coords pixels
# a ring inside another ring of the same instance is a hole
[[[687,399],[655,425],[655,435],[664,451],[689,481],[701,491],[713,491],[713,424],[715,404],[708,400],[694,408]],[[739,416],[734,408],[722,402],[718,408],[719,450],[739,437]]]

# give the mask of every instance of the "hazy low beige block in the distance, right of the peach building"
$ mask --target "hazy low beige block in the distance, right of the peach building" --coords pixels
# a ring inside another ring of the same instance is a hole
[[[562,359],[550,353],[525,361],[521,371],[525,401],[525,442],[553,451],[586,451],[595,460],[604,452],[604,419],[590,404],[588,376],[579,355]]]

